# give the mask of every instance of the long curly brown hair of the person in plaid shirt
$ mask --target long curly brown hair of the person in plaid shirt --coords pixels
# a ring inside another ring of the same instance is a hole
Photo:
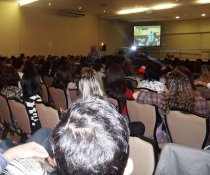
[[[172,71],[167,77],[169,94],[168,107],[182,110],[193,110],[193,91],[187,75],[180,71]]]

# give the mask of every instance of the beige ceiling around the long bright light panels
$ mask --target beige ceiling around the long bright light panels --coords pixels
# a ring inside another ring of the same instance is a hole
[[[8,1],[14,2],[17,0]],[[166,10],[147,10],[130,15],[116,14],[117,11],[125,8],[152,7],[160,3],[176,3],[179,5]],[[39,0],[22,7],[48,9],[57,12],[65,9],[78,10],[83,11],[85,14],[98,15],[103,18],[126,22],[185,20],[210,17],[210,2],[207,4],[197,4],[195,0]],[[201,17],[203,13],[206,14],[205,17]],[[176,16],[180,16],[180,19],[175,19]]]

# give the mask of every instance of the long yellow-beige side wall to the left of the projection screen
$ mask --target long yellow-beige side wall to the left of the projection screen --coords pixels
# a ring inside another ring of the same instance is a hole
[[[3,12],[3,13],[2,13]],[[0,55],[87,55],[103,41],[112,54],[127,46],[132,26],[97,16],[67,17],[57,12],[0,2]]]

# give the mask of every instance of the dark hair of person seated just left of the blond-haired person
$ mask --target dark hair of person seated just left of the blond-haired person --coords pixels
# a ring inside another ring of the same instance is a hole
[[[59,66],[54,77],[52,86],[55,88],[66,89],[68,83],[72,81],[71,71],[67,66]]]

